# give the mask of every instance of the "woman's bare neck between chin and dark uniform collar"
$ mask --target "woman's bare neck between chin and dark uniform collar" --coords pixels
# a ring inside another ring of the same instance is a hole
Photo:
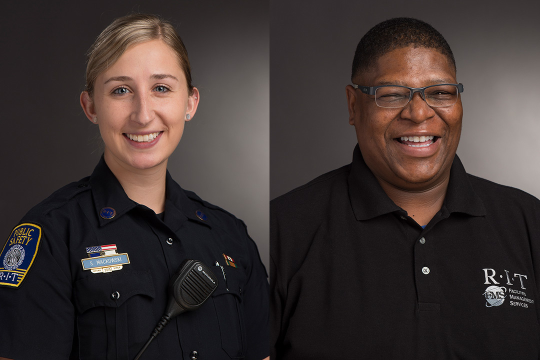
[[[156,214],[164,212],[167,161],[150,169],[134,169],[121,164],[105,152],[105,163],[128,198],[151,208]]]

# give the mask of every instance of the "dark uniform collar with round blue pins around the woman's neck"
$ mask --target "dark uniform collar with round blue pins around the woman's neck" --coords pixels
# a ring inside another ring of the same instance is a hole
[[[165,184],[165,223],[171,229],[177,230],[188,219],[210,226],[207,221],[197,217],[199,210],[197,203],[188,198],[184,189],[172,179],[168,171]],[[124,188],[105,163],[103,156],[90,176],[90,186],[100,226],[122,217],[137,206],[141,206],[127,197]],[[110,215],[106,214],[105,218],[100,216],[105,208],[113,209],[116,214],[112,218],[108,218]]]

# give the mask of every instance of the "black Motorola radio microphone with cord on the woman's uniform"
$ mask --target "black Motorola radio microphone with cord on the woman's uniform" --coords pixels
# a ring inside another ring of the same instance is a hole
[[[158,336],[173,317],[184,313],[184,311],[200,308],[217,287],[218,279],[210,268],[197,260],[184,260],[169,282],[167,310],[134,360],[138,360],[143,355],[152,340]]]

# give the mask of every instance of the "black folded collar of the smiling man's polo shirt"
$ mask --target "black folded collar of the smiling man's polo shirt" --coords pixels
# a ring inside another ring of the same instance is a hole
[[[383,214],[402,211],[379,185],[375,175],[366,165],[358,145],[354,148],[348,185],[349,200],[356,220],[368,220]],[[450,168],[450,180],[443,207],[446,207],[449,213],[485,215],[483,202],[471,186],[468,174],[457,155]]]

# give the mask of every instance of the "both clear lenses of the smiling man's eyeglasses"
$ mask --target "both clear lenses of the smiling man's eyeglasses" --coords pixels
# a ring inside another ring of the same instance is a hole
[[[409,103],[410,89],[400,86],[384,86],[375,90],[375,102],[380,107],[403,107]],[[424,90],[424,100],[429,106],[451,106],[457,102],[455,85],[435,85]]]

